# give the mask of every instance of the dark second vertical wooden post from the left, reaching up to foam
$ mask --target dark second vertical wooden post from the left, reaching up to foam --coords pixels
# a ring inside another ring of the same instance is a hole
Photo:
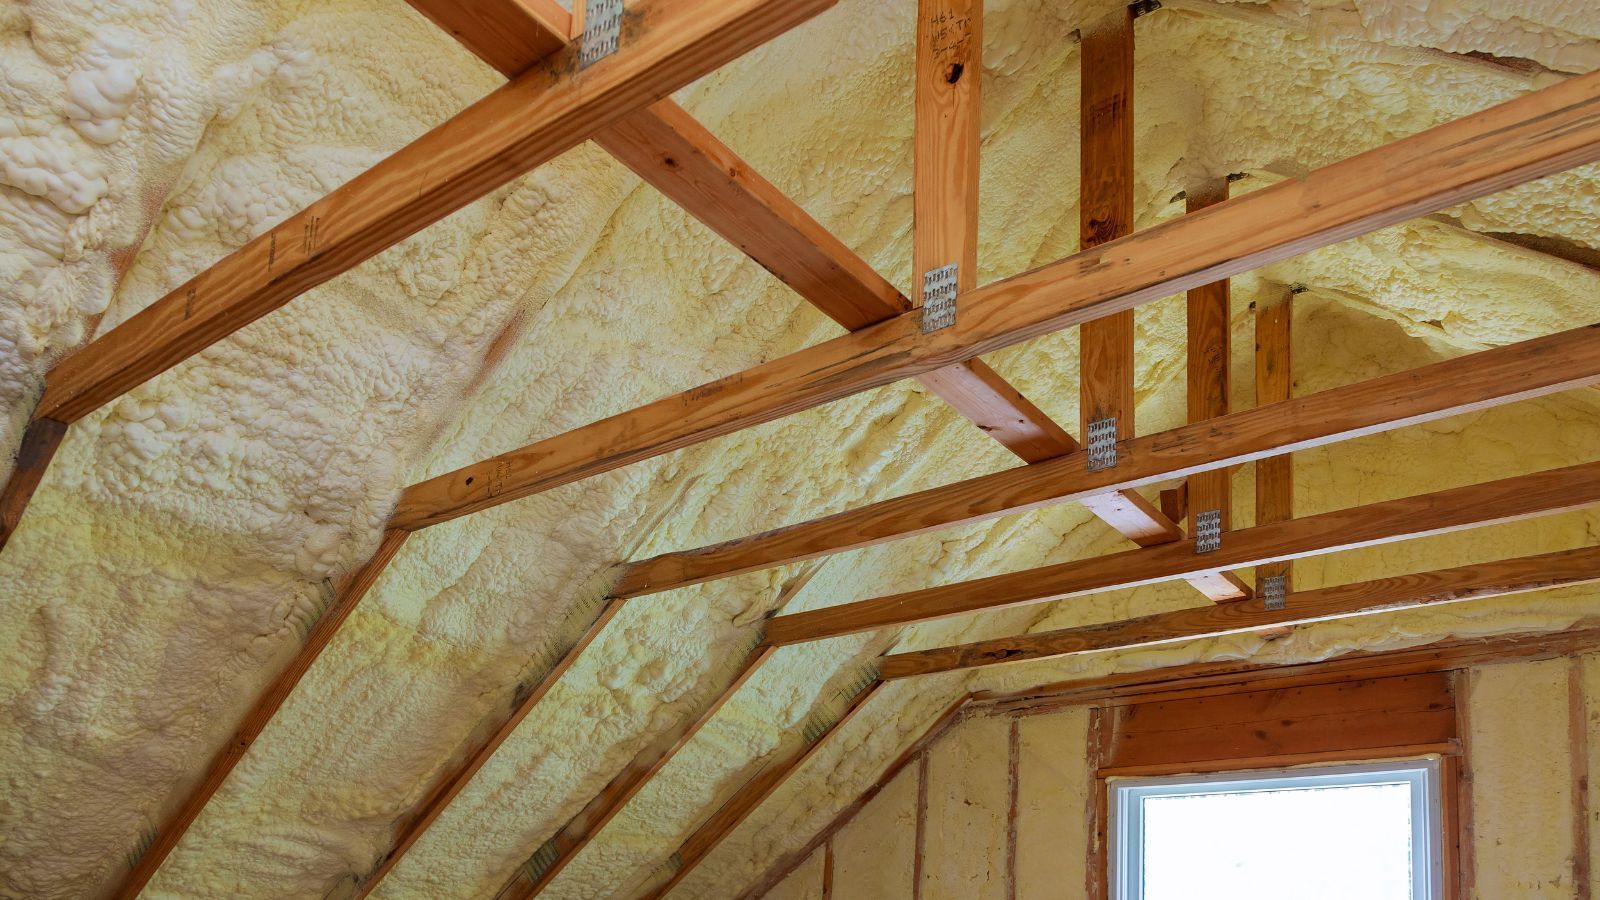
[[[1133,11],[1118,10],[1083,34],[1078,160],[1078,243],[1083,250],[1133,234]],[[1080,436],[1117,420],[1133,437],[1133,311],[1078,328]]]

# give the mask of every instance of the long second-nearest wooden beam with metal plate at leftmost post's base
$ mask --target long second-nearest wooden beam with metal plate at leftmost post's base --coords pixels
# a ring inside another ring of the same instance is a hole
[[[1600,72],[968,291],[949,328],[925,335],[906,312],[432,477],[392,524],[446,522],[1597,159]]]

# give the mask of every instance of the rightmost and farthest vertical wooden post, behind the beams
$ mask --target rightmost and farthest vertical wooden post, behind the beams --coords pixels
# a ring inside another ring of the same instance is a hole
[[[1256,301],[1256,405],[1282,404],[1293,396],[1290,365],[1293,336],[1293,293]],[[1256,524],[1272,525],[1294,517],[1294,461],[1290,453],[1256,460]],[[1256,585],[1282,577],[1283,591],[1294,589],[1294,564],[1269,562],[1256,567]]]

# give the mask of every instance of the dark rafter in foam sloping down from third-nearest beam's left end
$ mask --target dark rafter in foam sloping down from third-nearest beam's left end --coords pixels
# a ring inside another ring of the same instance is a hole
[[[528,717],[528,713],[544,700],[544,695],[555,687],[555,682],[562,681],[562,676],[573,668],[578,657],[589,649],[589,644],[605,631],[605,626],[611,623],[616,613],[622,609],[622,601],[610,599],[600,607],[600,615],[595,621],[584,631],[584,634],[562,653],[562,658],[546,671],[539,681],[517,690],[512,698],[510,711],[506,714],[493,730],[490,730],[477,745],[470,746],[462,757],[446,769],[427,790],[421,801],[414,807],[395,822],[394,838],[390,839],[389,850],[378,858],[374,866],[357,882],[354,897],[370,895],[378,884],[394,871],[395,865],[400,863],[402,857],[416,844],[418,838],[445,812],[445,807],[456,799],[456,794],[467,786],[467,781],[483,769],[483,764],[490,761],[491,756],[506,743],[506,738],[517,730],[517,725]]]

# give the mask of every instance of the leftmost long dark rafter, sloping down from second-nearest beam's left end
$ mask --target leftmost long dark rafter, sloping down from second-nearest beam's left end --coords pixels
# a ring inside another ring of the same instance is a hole
[[[189,826],[194,825],[195,817],[205,809],[205,804],[211,799],[211,794],[222,786],[227,780],[229,772],[238,761],[245,757],[245,753],[256,743],[261,732],[266,730],[267,722],[277,714],[283,701],[288,700],[290,692],[299,684],[306,673],[310,669],[317,657],[328,647],[333,641],[334,633],[344,625],[350,612],[355,610],[355,604],[371,589],[378,575],[389,565],[395,552],[400,551],[400,544],[410,536],[410,532],[389,530],[384,533],[382,543],[378,544],[378,552],[373,554],[366,564],[355,570],[352,575],[341,578],[336,585],[328,586],[328,605],[322,610],[317,623],[312,625],[310,633],[306,636],[306,644],[301,647],[299,653],[291,658],[282,671],[267,684],[266,690],[256,697],[254,706],[245,714],[245,719],[234,729],[234,735],[227,738],[227,743],[216,751],[211,762],[206,765],[205,773],[200,780],[189,790],[184,799],[178,804],[160,828],[155,831],[155,839],[150,847],[141,855],[133,866],[123,874],[122,882],[112,892],[112,897],[118,900],[133,900],[144,890],[155,870],[162,866],[166,855],[173,852],[178,841],[182,839]]]

